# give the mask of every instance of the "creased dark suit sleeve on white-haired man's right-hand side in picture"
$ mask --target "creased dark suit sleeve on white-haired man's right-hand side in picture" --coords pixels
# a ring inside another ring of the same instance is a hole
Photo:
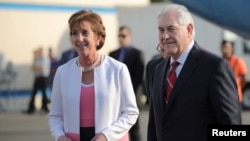
[[[209,91],[216,120],[218,124],[241,124],[241,108],[234,73],[225,60],[215,70]]]

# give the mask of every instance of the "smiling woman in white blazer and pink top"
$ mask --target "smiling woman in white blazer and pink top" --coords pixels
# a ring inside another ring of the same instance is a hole
[[[98,53],[105,41],[101,17],[87,10],[69,21],[78,57],[55,74],[48,115],[55,141],[128,141],[139,110],[126,65]]]

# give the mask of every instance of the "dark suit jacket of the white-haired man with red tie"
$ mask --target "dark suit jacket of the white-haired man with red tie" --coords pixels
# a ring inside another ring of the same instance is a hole
[[[195,43],[166,104],[169,64],[155,68],[148,141],[207,141],[207,125],[241,124],[235,77],[224,59]]]

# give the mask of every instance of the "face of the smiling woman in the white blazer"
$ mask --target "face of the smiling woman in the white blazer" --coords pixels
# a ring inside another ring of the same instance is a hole
[[[96,46],[100,42],[100,36],[92,30],[90,22],[81,21],[72,26],[71,42],[78,55],[86,57],[97,52]]]

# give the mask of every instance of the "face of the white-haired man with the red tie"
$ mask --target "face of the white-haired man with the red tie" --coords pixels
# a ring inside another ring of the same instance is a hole
[[[193,26],[180,25],[177,21],[178,15],[169,12],[161,15],[158,21],[159,42],[168,55],[178,58],[188,47]]]

